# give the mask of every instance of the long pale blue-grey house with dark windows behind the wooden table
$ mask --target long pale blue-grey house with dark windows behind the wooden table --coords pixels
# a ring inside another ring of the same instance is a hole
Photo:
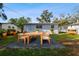
[[[52,23],[28,23],[24,25],[24,31],[33,32],[33,31],[49,31],[54,29],[54,32],[58,34],[58,26]]]

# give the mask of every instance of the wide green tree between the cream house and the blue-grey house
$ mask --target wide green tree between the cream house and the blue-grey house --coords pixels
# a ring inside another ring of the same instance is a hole
[[[23,28],[24,28],[24,25],[26,23],[29,23],[31,22],[31,18],[30,17],[27,17],[27,18],[24,18],[24,17],[20,17],[20,18],[11,18],[9,20],[10,23],[13,23],[15,24],[16,26],[18,26],[19,28],[21,28],[21,32],[23,32]]]

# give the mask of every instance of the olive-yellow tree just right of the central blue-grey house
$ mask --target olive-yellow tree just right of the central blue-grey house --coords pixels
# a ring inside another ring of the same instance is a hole
[[[58,24],[59,29],[62,30],[67,28],[69,24],[72,24],[73,21],[70,14],[67,14],[67,15],[61,14],[60,17],[53,18],[53,23]]]

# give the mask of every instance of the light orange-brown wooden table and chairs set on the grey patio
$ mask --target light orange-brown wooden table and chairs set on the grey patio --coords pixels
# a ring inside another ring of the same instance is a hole
[[[43,45],[43,40],[47,40],[48,44],[50,45],[50,34],[52,34],[51,32],[24,32],[24,33],[18,33],[18,43],[20,43],[20,39],[23,40],[24,42],[24,47],[27,45],[29,46],[29,42],[31,40],[32,37],[38,37],[40,38],[40,45],[42,47]]]

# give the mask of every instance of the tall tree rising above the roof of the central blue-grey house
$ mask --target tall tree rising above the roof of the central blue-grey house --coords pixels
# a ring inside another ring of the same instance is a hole
[[[53,17],[52,12],[44,10],[43,13],[40,15],[40,17],[37,17],[37,20],[40,23],[50,23],[52,17]]]

